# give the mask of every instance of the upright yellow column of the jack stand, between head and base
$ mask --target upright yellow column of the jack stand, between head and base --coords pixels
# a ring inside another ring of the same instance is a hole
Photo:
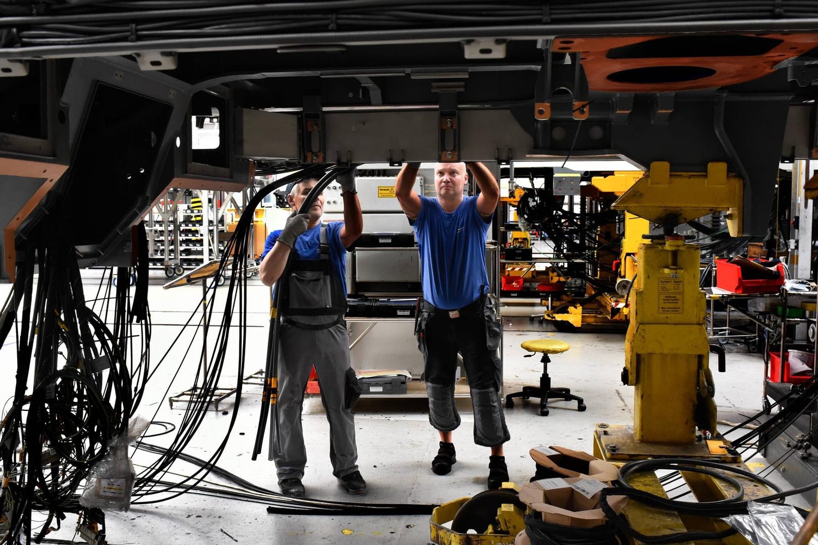
[[[633,436],[692,444],[696,423],[716,429],[699,247],[667,235],[640,246],[639,256],[622,372],[622,382],[636,386]],[[697,410],[702,404],[707,408]],[[695,422],[696,415],[708,416]]]

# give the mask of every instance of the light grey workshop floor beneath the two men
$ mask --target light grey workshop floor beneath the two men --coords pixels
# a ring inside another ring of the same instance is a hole
[[[177,424],[181,421],[186,404],[175,404],[170,409],[168,396],[186,390],[192,384],[199,364],[200,340],[183,359],[193,334],[192,328],[182,337],[159,364],[165,352],[180,333],[182,324],[196,309],[202,290],[200,285],[163,290],[164,277],[158,274],[149,288],[153,336],[151,339],[151,366],[157,369],[138,413],[145,418]],[[86,297],[96,293],[100,270],[84,271]],[[227,286],[219,288],[223,297]],[[0,286],[0,296],[8,293],[7,285]],[[267,346],[268,288],[249,280],[248,355],[244,375],[262,369]],[[213,322],[218,324],[224,309],[223,298],[217,302]],[[192,324],[196,324],[195,315]],[[220,386],[236,383],[236,346],[238,319],[234,319],[227,360]],[[211,330],[213,331],[213,330]],[[211,333],[214,336],[214,333]],[[13,336],[13,330],[12,330]],[[529,322],[527,318],[506,319],[504,338],[505,391],[518,391],[524,384],[534,385],[542,372],[538,357],[524,358],[520,342],[540,337],[559,338],[571,344],[571,350],[553,357],[550,365],[555,386],[569,386],[582,395],[587,411],[578,413],[576,404],[552,402],[551,414],[539,416],[537,401],[520,402],[514,409],[506,409],[506,421],[511,440],[506,444],[506,462],[510,476],[518,484],[533,475],[534,462],[528,449],[537,445],[558,444],[572,449],[591,452],[591,431],[596,422],[631,424],[633,390],[622,386],[619,373],[624,360],[623,333],[555,333],[547,325]],[[372,367],[389,367],[389,346],[383,346],[383,360]],[[4,403],[14,386],[16,366],[15,343],[7,339],[2,347],[2,380],[0,403]],[[420,358],[420,353],[417,354]],[[183,364],[180,368],[180,362]],[[738,422],[741,414],[755,413],[761,407],[763,363],[759,355],[748,354],[744,345],[729,345],[726,373],[716,373],[716,400],[722,419]],[[261,386],[245,385],[240,398],[239,414],[220,467],[267,489],[276,486],[275,467],[267,461],[267,440],[257,461],[251,461]],[[199,433],[191,441],[190,453],[209,458],[227,431],[227,423],[236,409],[236,400],[230,398],[210,410]],[[429,426],[425,399],[395,397],[388,400],[362,400],[356,406],[358,463],[369,484],[366,496],[355,498],[367,503],[445,503],[455,498],[471,496],[485,489],[488,475],[488,449],[474,445],[473,418],[468,399],[461,400],[461,428],[455,432],[457,463],[452,473],[437,476],[430,470],[430,461],[438,449],[437,434]],[[226,414],[225,414],[226,413]],[[303,414],[304,436],[307,440],[308,467],[303,483],[310,498],[333,501],[351,501],[353,497],[339,488],[331,474],[328,461],[329,432],[321,402],[308,399]],[[150,434],[161,433],[160,426],[151,427]],[[269,434],[267,434],[267,437]],[[155,444],[169,444],[173,432],[155,436]],[[154,459],[154,455],[137,452],[133,462],[140,465]],[[756,458],[753,469],[765,463]],[[175,464],[170,471],[189,475],[192,467]],[[165,480],[181,480],[167,475]],[[215,476],[209,480],[224,482]],[[787,486],[789,488],[789,486]],[[150,497],[148,498],[150,499]],[[798,500],[795,500],[798,501]],[[44,516],[35,514],[34,520]],[[64,528],[49,538],[74,538],[75,517],[68,516]],[[133,505],[128,512],[109,512],[106,517],[107,538],[110,543],[429,543],[429,516],[281,516],[269,515],[264,503],[249,503],[202,495],[182,494],[162,503]],[[74,538],[81,542],[79,537]]]

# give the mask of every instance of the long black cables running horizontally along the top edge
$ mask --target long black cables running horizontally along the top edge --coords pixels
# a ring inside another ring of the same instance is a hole
[[[774,29],[773,23],[778,20],[807,20],[806,25],[818,17],[818,7],[808,0],[686,2],[682,7],[663,0],[551,0],[545,4],[533,0],[451,0],[445,5],[434,0],[32,0],[26,3],[29,6],[25,8],[22,5],[0,7],[0,16],[4,16],[0,27],[2,47],[56,50],[59,46],[81,44],[133,44],[188,38],[218,42],[220,38],[250,35],[270,38],[308,34],[316,39],[321,34],[365,35],[399,30],[417,33],[420,29],[425,34],[433,34],[435,30],[452,26],[472,33],[502,26],[504,36],[514,36],[515,29],[516,34],[530,36],[550,25],[580,24],[605,25],[604,28],[612,32],[613,25],[638,31],[646,23],[684,30],[704,23],[721,23],[724,27],[732,23],[744,29],[740,26],[743,21],[768,21],[770,29]]]

